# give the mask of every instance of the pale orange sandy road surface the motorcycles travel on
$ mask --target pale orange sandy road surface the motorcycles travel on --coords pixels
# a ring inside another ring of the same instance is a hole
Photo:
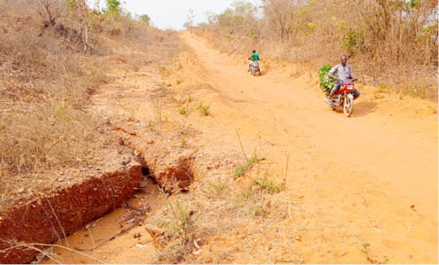
[[[183,38],[212,90],[215,121],[200,126],[203,134],[236,142],[239,129],[244,145],[270,143],[262,152],[278,177],[290,156],[288,196],[303,197],[310,214],[309,240],[294,246],[306,261],[364,262],[350,252],[356,240],[372,242],[391,262],[437,261],[437,121],[435,113],[416,114],[430,103],[374,103],[363,88],[348,119],[328,110],[308,74],[252,77],[243,61],[198,36]]]

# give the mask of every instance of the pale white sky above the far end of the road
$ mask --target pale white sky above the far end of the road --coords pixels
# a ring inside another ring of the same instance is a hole
[[[92,1],[88,0],[89,3]],[[100,2],[102,9],[106,1]],[[207,21],[207,12],[223,12],[234,0],[122,0],[121,2],[123,8],[133,14],[147,14],[156,27],[182,29],[190,8],[193,9],[196,15],[194,20],[198,23]]]

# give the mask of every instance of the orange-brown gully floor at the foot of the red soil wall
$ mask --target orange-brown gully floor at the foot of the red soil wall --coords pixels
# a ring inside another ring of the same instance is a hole
[[[88,223],[62,239],[59,246],[39,255],[43,264],[55,263],[152,263],[156,250],[143,224],[165,202],[153,179],[145,177],[141,188],[122,207]],[[123,250],[123,252],[122,252]]]

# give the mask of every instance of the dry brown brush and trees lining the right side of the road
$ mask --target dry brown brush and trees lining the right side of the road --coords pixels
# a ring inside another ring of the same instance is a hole
[[[418,97],[436,97],[437,3],[426,0],[237,1],[200,29],[223,51],[317,68],[349,56],[354,74]],[[217,36],[220,37],[217,37]]]

